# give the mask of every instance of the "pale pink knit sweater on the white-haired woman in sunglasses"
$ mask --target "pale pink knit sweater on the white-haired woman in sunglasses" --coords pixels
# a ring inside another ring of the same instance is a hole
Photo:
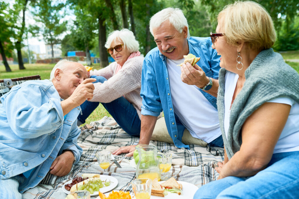
[[[143,60],[144,57],[141,56],[127,60],[117,74],[115,74],[116,62],[103,69],[90,71],[90,76],[103,76],[107,79],[103,84],[100,82],[94,84],[94,97],[91,101],[108,103],[124,95],[141,118],[140,87]]]

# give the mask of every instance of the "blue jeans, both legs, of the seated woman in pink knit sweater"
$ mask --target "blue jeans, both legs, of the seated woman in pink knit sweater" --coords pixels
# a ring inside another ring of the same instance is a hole
[[[106,78],[102,76],[92,75],[91,78],[97,79],[97,82],[103,83],[107,81]],[[85,123],[86,118],[97,108],[100,102],[85,101],[81,104],[82,114],[79,114],[78,121]],[[117,124],[128,134],[133,136],[140,135],[141,121],[138,116],[136,109],[133,105],[126,100],[123,96],[117,98],[109,103],[101,103],[104,108],[110,113],[110,115],[115,119]]]

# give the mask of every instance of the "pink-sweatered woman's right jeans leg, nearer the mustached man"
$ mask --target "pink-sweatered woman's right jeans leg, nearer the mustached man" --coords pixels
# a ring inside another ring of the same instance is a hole
[[[102,103],[117,124],[128,134],[140,136],[141,120],[136,109],[124,97],[109,103]]]

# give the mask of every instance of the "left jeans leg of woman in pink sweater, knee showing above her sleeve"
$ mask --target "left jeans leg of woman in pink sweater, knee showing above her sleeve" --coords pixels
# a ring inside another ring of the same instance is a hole
[[[103,83],[104,81],[107,81],[107,79],[102,76],[92,75],[92,76],[90,76],[90,78],[96,79],[96,81],[94,81],[93,83],[98,83],[98,82]],[[85,120],[94,111],[94,109],[96,109],[99,106],[99,104],[100,104],[100,102],[93,102],[93,101],[87,101],[87,100],[85,102],[83,102],[83,104],[80,105],[80,107],[82,109],[82,115],[81,114],[78,115],[78,118],[77,118],[78,121],[80,121],[82,124],[84,124]]]

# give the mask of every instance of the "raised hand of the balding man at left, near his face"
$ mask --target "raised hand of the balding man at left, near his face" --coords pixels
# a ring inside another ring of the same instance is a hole
[[[85,79],[71,94],[69,99],[74,102],[75,107],[83,104],[86,99],[91,100],[93,98],[94,85],[92,82],[94,81],[96,81],[94,78]]]

